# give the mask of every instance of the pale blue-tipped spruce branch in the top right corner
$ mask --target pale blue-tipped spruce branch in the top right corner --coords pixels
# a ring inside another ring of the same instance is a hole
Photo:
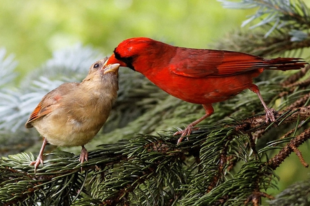
[[[298,32],[309,29],[310,14],[307,5],[301,0],[243,0],[241,2],[231,2],[220,0],[224,8],[249,9],[258,8],[256,14],[253,14],[242,23],[242,26],[249,24],[255,19],[260,22],[250,27],[262,27],[272,25],[270,30],[265,34],[265,38],[273,30],[288,30],[291,33],[291,41],[302,41],[307,38],[307,33]]]

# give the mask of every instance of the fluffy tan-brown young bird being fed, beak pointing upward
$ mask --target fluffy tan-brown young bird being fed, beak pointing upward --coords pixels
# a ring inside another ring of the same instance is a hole
[[[117,98],[119,64],[103,66],[105,59],[95,62],[81,82],[70,82],[46,94],[25,123],[43,136],[43,145],[34,172],[43,164],[46,144],[82,146],[79,161],[88,160],[84,147],[99,132]]]

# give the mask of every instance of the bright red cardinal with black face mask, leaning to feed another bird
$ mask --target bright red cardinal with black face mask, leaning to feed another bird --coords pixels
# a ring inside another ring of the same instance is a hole
[[[176,98],[203,104],[205,115],[185,130],[175,133],[183,137],[193,126],[214,113],[212,103],[222,102],[245,89],[254,91],[266,111],[266,122],[276,121],[258,87],[252,83],[265,69],[300,69],[307,64],[300,58],[261,58],[240,52],[214,49],[174,47],[151,38],[129,38],[114,49],[105,65],[120,64],[146,76],[151,82]]]

